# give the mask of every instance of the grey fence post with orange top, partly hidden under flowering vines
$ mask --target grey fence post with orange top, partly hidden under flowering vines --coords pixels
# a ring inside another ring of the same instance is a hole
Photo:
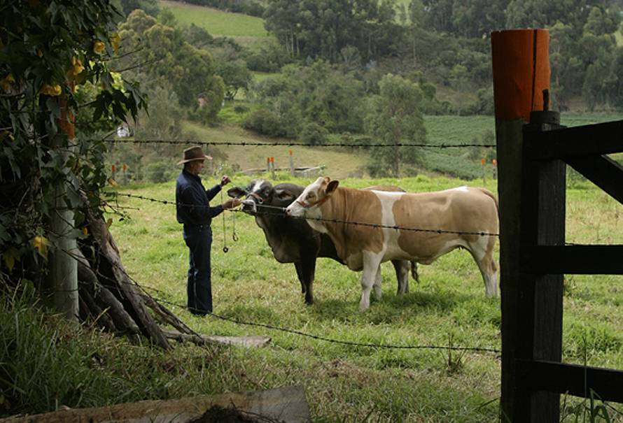
[[[59,127],[64,135],[57,134],[54,146],[59,150],[64,160],[69,156],[69,152],[62,148],[60,141],[62,136],[73,141],[73,116],[67,110],[66,99],[59,100],[61,116]],[[72,254],[76,254],[78,244],[76,238],[71,236],[73,230],[73,210],[69,209],[64,201],[69,182],[59,180],[55,187],[55,210],[53,212],[50,229],[55,243],[55,251],[50,258],[50,278],[54,294],[52,296],[54,307],[61,312],[68,320],[78,320],[78,261]],[[71,188],[69,188],[71,189]]]

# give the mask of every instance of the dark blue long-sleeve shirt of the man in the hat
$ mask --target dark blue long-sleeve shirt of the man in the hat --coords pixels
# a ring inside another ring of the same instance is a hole
[[[209,225],[212,222],[212,217],[223,212],[221,204],[210,207],[209,203],[220,191],[220,184],[205,189],[199,176],[182,171],[177,177],[175,187],[177,221],[191,226]]]

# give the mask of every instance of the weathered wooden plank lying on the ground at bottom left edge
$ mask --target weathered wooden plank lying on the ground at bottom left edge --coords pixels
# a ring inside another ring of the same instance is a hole
[[[188,423],[210,408],[234,408],[284,423],[309,422],[303,387],[202,395],[165,401],[139,401],[101,408],[76,408],[0,419],[0,423]],[[260,420],[258,420],[260,421]],[[264,420],[262,420],[264,421]]]

